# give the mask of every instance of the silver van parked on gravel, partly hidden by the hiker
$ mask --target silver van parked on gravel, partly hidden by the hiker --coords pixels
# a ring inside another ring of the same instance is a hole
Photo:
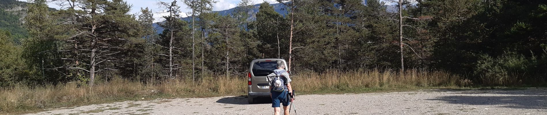
[[[258,97],[270,98],[270,86],[266,82],[266,76],[277,69],[277,61],[282,61],[287,66],[285,59],[255,59],[249,64],[249,72],[247,74],[249,104],[254,104],[255,99]]]

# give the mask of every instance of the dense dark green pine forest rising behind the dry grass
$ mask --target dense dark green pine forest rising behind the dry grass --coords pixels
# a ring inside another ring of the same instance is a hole
[[[547,80],[542,0],[403,1],[389,7],[395,10],[371,0],[243,0],[227,11],[212,11],[210,0],[175,1],[159,3],[170,14],[159,24],[148,8],[132,15],[122,0],[69,1],[80,5],[58,10],[44,2],[2,0],[8,48],[0,49],[0,86],[243,77],[258,58],[286,59],[295,75],[406,68],[492,86]],[[181,20],[181,4],[193,15]],[[21,37],[21,45],[10,44]]]

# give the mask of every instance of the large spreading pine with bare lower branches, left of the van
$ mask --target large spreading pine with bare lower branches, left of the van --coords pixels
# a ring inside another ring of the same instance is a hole
[[[66,55],[59,59],[72,63],[46,70],[84,71],[92,87],[96,73],[117,70],[115,64],[124,63],[119,60],[123,57],[120,52],[124,52],[127,38],[138,35],[139,28],[133,26],[138,22],[129,14],[130,5],[121,0],[71,2],[79,5],[69,4],[57,11],[66,21],[48,29],[65,32],[53,35],[53,39],[62,42],[58,52]]]

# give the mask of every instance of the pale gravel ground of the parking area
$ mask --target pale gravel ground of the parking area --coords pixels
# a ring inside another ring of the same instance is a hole
[[[296,96],[297,114],[547,114],[547,88],[417,90]],[[268,100],[268,99],[264,99]],[[294,112],[294,111],[293,111]],[[56,108],[32,114],[273,114],[242,96],[158,99]]]

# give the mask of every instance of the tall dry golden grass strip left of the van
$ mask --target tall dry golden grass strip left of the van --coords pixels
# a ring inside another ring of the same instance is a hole
[[[108,83],[97,83],[91,90],[66,83],[57,86],[30,88],[16,86],[0,90],[0,114],[26,113],[45,108],[72,107],[124,100],[150,100],[156,98],[193,98],[220,95],[242,95],[247,91],[247,78],[206,76],[202,80],[166,80],[146,84],[115,79]]]

